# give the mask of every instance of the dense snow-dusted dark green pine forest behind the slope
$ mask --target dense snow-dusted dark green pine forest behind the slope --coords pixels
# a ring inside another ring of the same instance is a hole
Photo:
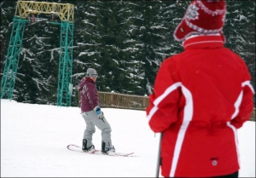
[[[73,3],[73,106],[76,86],[88,67],[99,73],[97,89],[149,95],[160,64],[183,51],[172,33],[191,1],[44,1]],[[1,78],[16,1],[1,1]],[[15,81],[14,100],[56,104],[60,26],[37,14],[27,22]],[[227,1],[225,47],[247,63],[255,89],[255,1]],[[255,103],[255,100],[254,100]]]

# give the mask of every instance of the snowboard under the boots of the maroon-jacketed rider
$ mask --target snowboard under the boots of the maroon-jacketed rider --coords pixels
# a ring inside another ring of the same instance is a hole
[[[82,147],[81,146],[76,146],[76,145],[68,145],[67,149],[73,152],[83,152],[82,151]],[[114,152],[111,155],[108,154],[102,154],[102,152],[100,150],[95,150],[94,152],[84,152],[84,153],[88,153],[88,154],[97,154],[97,155],[105,155],[105,156],[111,156],[111,157],[133,157],[133,153],[134,152]]]

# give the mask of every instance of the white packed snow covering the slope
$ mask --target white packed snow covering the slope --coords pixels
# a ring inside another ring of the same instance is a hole
[[[146,113],[102,108],[112,127],[117,152],[110,157],[72,152],[81,146],[85,122],[79,107],[25,104],[1,100],[1,177],[154,177],[160,135],[149,129]],[[238,129],[239,177],[255,177],[255,122]],[[93,136],[101,148],[101,131]]]

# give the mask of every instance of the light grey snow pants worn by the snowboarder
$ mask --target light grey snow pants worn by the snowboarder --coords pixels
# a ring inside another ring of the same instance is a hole
[[[112,147],[112,129],[107,119],[105,117],[103,119],[98,118],[94,110],[91,110],[90,112],[82,112],[82,116],[86,123],[86,129],[84,129],[84,139],[87,140],[87,147],[92,145],[92,135],[96,131],[95,126],[102,130],[102,141],[106,143],[106,147]]]

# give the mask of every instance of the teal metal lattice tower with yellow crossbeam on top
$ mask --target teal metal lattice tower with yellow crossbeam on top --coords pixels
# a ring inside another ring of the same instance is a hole
[[[61,26],[57,106],[71,106],[73,88],[73,10],[74,6],[71,3],[17,2],[8,54],[4,61],[1,98],[7,95],[7,98],[11,100],[13,97],[22,39],[25,25],[28,21],[26,18],[30,14],[52,14],[61,20],[61,22],[52,22],[54,25]]]

